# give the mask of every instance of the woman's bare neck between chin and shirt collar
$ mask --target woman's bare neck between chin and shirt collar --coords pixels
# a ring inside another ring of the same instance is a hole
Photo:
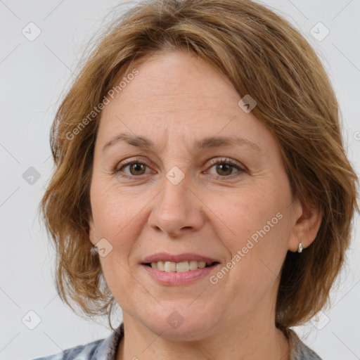
[[[124,338],[117,350],[117,360],[290,359],[288,340],[276,328],[272,317],[264,319],[251,314],[241,322],[224,319],[224,323],[217,324],[206,335],[186,331],[187,340],[169,340],[126,312],[123,311],[123,314]]]

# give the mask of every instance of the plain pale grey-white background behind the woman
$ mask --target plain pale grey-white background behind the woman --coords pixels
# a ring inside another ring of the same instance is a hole
[[[321,57],[340,101],[345,148],[359,172],[360,0],[264,3],[288,18]],[[60,96],[79,70],[87,41],[119,13],[119,9],[111,11],[118,4],[111,0],[0,0],[1,360],[34,359],[111,333],[106,319],[80,319],[56,295],[53,250],[35,214],[51,173],[49,130]],[[41,30],[34,41],[22,34],[30,22]],[[322,41],[310,32],[319,22],[330,30]],[[40,175],[32,185],[23,179],[29,167]],[[357,215],[354,224],[347,266],[338,291],[333,291],[333,307],[325,311],[327,318],[322,316],[316,326],[295,328],[324,360],[360,359]],[[30,310],[41,319],[34,330],[22,322]],[[121,320],[120,313],[113,326]]]

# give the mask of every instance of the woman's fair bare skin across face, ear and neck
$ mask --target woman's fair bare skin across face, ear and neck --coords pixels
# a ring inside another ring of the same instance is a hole
[[[113,246],[100,260],[124,316],[117,360],[290,359],[275,326],[281,266],[300,239],[306,251],[321,214],[293,200],[276,139],[238,106],[219,70],[182,51],[156,54],[136,69],[101,113],[90,192],[91,243],[105,238]],[[155,149],[105,146],[122,132],[150,139]],[[259,148],[195,150],[207,136],[238,136]],[[173,167],[184,173],[177,185],[166,177]],[[283,218],[215,285],[208,276],[160,285],[140,265],[155,252],[195,252],[222,267],[278,212]],[[184,318],[176,329],[167,322],[173,311]]]

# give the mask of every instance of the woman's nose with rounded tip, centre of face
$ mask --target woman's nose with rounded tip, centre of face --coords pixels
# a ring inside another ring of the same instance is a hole
[[[155,205],[148,218],[148,224],[155,231],[180,238],[198,231],[204,224],[205,206],[196,191],[188,187],[186,177],[179,184],[172,184],[166,177],[162,191],[154,199]]]

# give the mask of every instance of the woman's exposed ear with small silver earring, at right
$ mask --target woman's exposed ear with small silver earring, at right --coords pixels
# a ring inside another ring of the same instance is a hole
[[[301,241],[305,249],[315,240],[320,229],[323,213],[318,205],[309,201],[295,200],[295,224],[290,233],[288,249],[297,252]]]

